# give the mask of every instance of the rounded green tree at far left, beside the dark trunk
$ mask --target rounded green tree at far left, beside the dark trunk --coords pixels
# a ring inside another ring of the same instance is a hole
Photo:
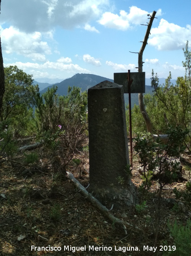
[[[16,135],[29,135],[34,131],[32,106],[38,86],[33,85],[32,75],[24,73],[17,66],[4,68],[5,93],[0,116],[1,121],[9,119],[9,127]]]

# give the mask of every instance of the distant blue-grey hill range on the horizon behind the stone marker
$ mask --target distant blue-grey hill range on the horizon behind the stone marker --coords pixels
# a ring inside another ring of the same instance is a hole
[[[38,79],[40,81],[47,81],[46,78],[41,78]],[[68,93],[68,86],[76,86],[81,88],[82,91],[86,91],[87,89],[89,89],[90,87],[99,84],[105,80],[108,80],[110,82],[113,82],[113,79],[109,79],[109,78],[105,78],[103,76],[97,76],[94,74],[75,74],[74,76],[72,76],[71,78],[67,78],[65,80],[63,80],[60,83],[55,83],[55,85],[58,87],[57,89],[57,93],[59,95],[67,95]],[[152,88],[151,88],[151,79],[146,78],[145,79],[145,93],[151,93],[152,94]],[[40,81],[34,81],[34,84],[38,84],[39,85],[39,90],[40,93],[44,93],[47,91],[47,89],[52,88],[53,84],[49,84],[49,83],[41,83]],[[48,80],[48,81],[51,81]],[[59,81],[59,79],[57,80]],[[172,83],[175,83],[176,80],[172,80]],[[159,78],[159,83],[163,84],[165,83],[165,78]],[[125,102],[126,104],[128,104],[128,94],[125,94]],[[131,106],[133,107],[134,104],[139,104],[138,103],[138,94],[137,93],[133,93],[131,94]]]

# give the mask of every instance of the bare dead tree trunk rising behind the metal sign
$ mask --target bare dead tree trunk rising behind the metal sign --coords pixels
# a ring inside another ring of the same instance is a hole
[[[142,54],[143,54],[143,51],[147,45],[147,40],[149,38],[149,34],[150,34],[150,31],[151,31],[151,26],[152,26],[152,22],[155,18],[155,14],[157,12],[153,12],[152,13],[152,16],[150,16],[150,21],[147,25],[147,31],[146,31],[146,34],[145,34],[145,37],[144,37],[144,40],[142,42],[142,46],[141,46],[141,49],[139,51],[139,54],[138,54],[138,72],[142,72],[142,64],[144,63],[142,61]],[[142,113],[142,116],[146,122],[146,126],[147,126],[147,132],[151,132],[152,133],[152,124],[151,124],[151,120],[147,114],[147,111],[145,109],[145,106],[144,106],[144,101],[143,101],[143,94],[142,93],[139,93],[138,94],[138,99],[139,99],[139,107],[140,107],[140,111]]]

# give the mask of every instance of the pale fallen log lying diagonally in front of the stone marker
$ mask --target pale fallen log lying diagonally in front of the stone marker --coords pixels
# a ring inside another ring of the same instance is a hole
[[[74,183],[76,188],[80,190],[84,197],[87,198],[87,200],[89,200],[92,205],[95,206],[95,208],[97,208],[99,211],[101,211],[101,213],[103,213],[110,221],[112,221],[114,225],[120,226],[125,234],[127,234],[126,226],[133,228],[133,225],[129,224],[128,222],[122,221],[113,216],[112,213],[110,213],[110,211],[104,205],[102,205],[99,200],[93,197],[91,193],[87,192],[86,188],[84,188],[83,185],[81,185],[79,181],[74,178],[74,175],[72,173],[66,173],[68,175],[68,178]]]

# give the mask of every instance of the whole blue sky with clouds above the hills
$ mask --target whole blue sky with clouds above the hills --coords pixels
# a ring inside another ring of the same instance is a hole
[[[147,14],[157,11],[143,71],[159,78],[184,76],[182,48],[191,46],[191,1],[2,0],[0,33],[4,66],[33,78],[66,79],[76,73],[113,78],[136,72]]]

